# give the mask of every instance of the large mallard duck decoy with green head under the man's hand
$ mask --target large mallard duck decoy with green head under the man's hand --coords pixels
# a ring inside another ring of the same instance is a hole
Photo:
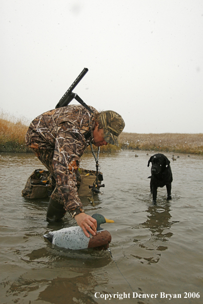
[[[92,218],[97,221],[96,235],[92,235],[88,231],[90,237],[87,237],[82,228],[75,226],[50,231],[44,237],[52,244],[66,249],[78,250],[98,247],[100,250],[106,250],[111,242],[111,234],[109,231],[101,228],[100,225],[114,223],[114,221],[108,220],[103,215],[97,213],[93,214]]]

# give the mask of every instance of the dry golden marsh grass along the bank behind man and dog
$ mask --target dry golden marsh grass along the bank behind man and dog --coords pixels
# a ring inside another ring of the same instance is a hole
[[[25,144],[25,135],[30,122],[24,117],[16,119],[14,116],[0,112],[0,151],[29,153]],[[114,145],[102,146],[100,153],[119,149],[148,150],[173,153],[188,153],[203,155],[203,134],[137,134],[121,133],[119,147]],[[86,153],[91,151],[87,148]],[[97,149],[95,148],[95,153]]]

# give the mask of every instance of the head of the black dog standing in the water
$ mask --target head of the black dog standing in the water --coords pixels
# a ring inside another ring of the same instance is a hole
[[[163,172],[170,165],[170,160],[164,154],[158,153],[150,157],[147,165],[148,167],[150,163],[152,163],[152,174],[158,174]]]

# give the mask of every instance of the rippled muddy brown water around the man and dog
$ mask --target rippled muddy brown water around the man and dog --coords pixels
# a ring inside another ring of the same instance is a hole
[[[1,154],[1,304],[202,303],[203,157],[176,154],[172,161],[165,153],[173,172],[172,200],[166,200],[166,187],[158,188],[154,205],[147,163],[155,153],[136,154],[100,154],[104,194],[94,197],[94,207],[82,200],[88,214],[115,221],[103,225],[112,235],[112,257],[48,243],[43,234],[75,221],[67,214],[49,224],[48,199],[21,196],[33,170],[44,168],[34,155]],[[95,169],[92,155],[84,155],[81,164]],[[114,298],[105,300],[105,294]]]

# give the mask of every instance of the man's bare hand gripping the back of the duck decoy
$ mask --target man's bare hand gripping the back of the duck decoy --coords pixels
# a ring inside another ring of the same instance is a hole
[[[83,231],[87,237],[90,237],[87,230],[92,235],[96,235],[97,222],[95,219],[92,218],[92,216],[90,216],[84,212],[81,212],[81,213],[75,215],[74,218],[75,218],[75,221],[77,222],[77,225],[83,229]]]

